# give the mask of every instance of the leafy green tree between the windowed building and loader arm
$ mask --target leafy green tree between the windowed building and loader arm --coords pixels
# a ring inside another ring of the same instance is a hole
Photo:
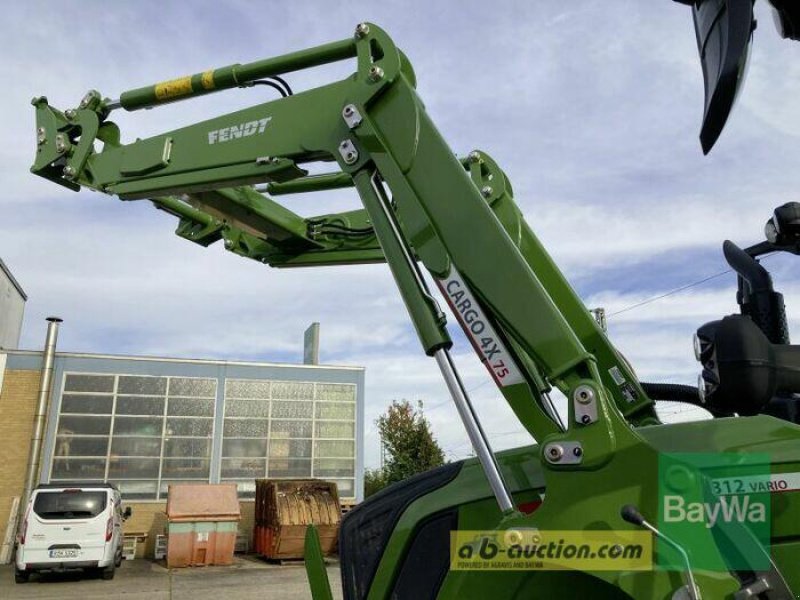
[[[415,410],[408,400],[395,400],[376,424],[386,452],[385,485],[444,464],[444,452],[422,414],[421,402]]]

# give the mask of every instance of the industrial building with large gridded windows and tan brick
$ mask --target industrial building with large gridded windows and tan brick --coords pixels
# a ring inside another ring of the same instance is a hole
[[[0,351],[0,367],[0,536],[24,497],[42,396],[36,481],[116,484],[133,509],[126,532],[146,542],[140,555],[164,532],[171,483],[236,482],[244,537],[258,478],[324,479],[344,503],[362,499],[362,367],[59,351],[48,367],[46,348]]]

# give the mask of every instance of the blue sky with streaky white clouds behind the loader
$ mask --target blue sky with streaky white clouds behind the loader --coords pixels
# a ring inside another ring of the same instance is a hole
[[[615,313],[724,270],[723,239],[759,241],[772,209],[799,199],[798,46],[779,40],[766,3],[757,5],[747,86],[708,157],[697,140],[703,92],[691,17],[668,0],[10,5],[0,24],[0,256],[30,296],[22,345],[38,348],[43,318],[55,313],[65,319],[64,350],[297,361],[303,330],[320,321],[325,362],[367,367],[368,464],[378,457],[372,421],[394,398],[423,399],[449,456],[463,456],[466,436],[385,266],[270,270],[177,238],[174,220],[147,203],[35,178],[30,98],[68,108],[89,88],[115,97],[343,39],[373,21],[414,64],[454,151],[495,157],[587,304]],[[302,90],[350,71],[288,79]],[[233,90],[115,120],[131,140],[268,97],[266,88]],[[356,206],[337,192],[291,207]],[[800,278],[792,262],[774,265],[796,330]],[[642,379],[691,383],[691,334],[735,310],[733,283],[718,277],[612,316],[612,339]],[[455,353],[496,446],[525,442],[467,345]]]

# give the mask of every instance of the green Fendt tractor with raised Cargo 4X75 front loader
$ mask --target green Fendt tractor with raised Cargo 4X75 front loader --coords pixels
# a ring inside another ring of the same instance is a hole
[[[708,150],[741,82],[752,0],[686,3],[706,79]],[[773,3],[791,37],[796,9]],[[282,78],[349,59],[353,74],[321,87],[293,94]],[[284,97],[128,143],[111,120],[115,110],[257,83]],[[756,260],[797,251],[798,207],[776,212],[770,241],[726,244],[742,314],[699,331],[699,396],[643,384],[525,223],[503,170],[480,150],[454,154],[415,85],[406,55],[362,23],[338,42],[118,99],[90,91],[61,111],[36,98],[32,171],[71,190],[148,199],[178,218],[181,237],[221,241],[274,267],[389,265],[476,458],[391,486],[347,515],[345,598],[798,597],[800,360]],[[319,161],[330,172],[308,174]],[[274,200],[349,187],[363,208],[303,218]],[[536,445],[492,452],[430,282]],[[565,421],[553,390],[567,399]],[[662,424],[656,400],[694,402],[717,418]],[[327,598],[309,532],[312,590]]]

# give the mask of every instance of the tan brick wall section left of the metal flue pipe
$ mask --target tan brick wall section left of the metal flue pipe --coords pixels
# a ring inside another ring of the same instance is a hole
[[[4,356],[4,355],[2,355]],[[2,371],[0,371],[2,373]],[[6,370],[0,388],[0,538],[15,496],[25,487],[39,372]]]

